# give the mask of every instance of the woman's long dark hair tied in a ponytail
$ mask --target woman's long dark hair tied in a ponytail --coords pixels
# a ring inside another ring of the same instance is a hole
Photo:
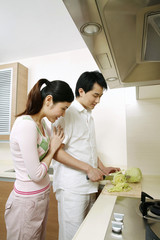
[[[46,86],[41,90],[43,84],[46,84]],[[73,91],[68,83],[61,80],[54,80],[50,82],[47,79],[40,79],[28,94],[25,111],[17,116],[33,115],[38,113],[43,106],[44,99],[48,95],[52,96],[54,103],[72,102],[74,100]]]

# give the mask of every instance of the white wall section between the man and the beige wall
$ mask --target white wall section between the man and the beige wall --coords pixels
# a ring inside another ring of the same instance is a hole
[[[98,153],[110,166],[127,166],[125,90],[108,89],[93,111]]]

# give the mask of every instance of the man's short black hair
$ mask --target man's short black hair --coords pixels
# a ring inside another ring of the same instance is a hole
[[[93,89],[93,85],[98,83],[102,88],[107,90],[107,83],[103,75],[98,71],[93,72],[84,72],[80,75],[75,89],[76,97],[79,97],[79,88],[83,88],[86,92],[89,92]]]

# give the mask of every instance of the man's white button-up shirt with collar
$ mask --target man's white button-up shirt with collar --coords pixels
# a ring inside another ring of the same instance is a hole
[[[76,159],[96,168],[97,149],[94,121],[91,111],[87,111],[77,100],[67,109],[64,118],[55,125],[64,129],[64,150]],[[86,173],[53,160],[53,190],[64,189],[72,193],[89,194],[97,192],[98,183],[86,179]]]

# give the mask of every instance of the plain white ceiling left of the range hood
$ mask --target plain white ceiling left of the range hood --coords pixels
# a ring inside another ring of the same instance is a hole
[[[0,1],[0,63],[85,47],[62,0]]]

